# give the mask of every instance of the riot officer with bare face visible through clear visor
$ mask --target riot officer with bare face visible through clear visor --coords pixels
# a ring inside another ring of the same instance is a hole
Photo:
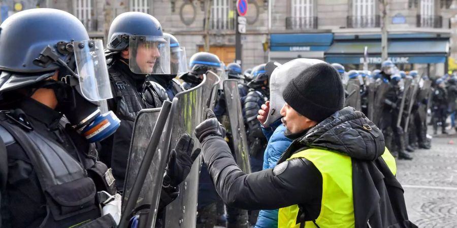
[[[151,15],[127,12],[117,16],[108,34],[108,71],[114,98],[108,108],[122,120],[119,131],[102,142],[102,156],[123,189],[135,118],[144,108],[160,107],[167,91],[149,81],[150,74],[170,74],[169,38]]]

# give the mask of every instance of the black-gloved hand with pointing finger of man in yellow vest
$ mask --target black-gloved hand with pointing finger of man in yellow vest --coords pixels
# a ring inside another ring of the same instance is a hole
[[[197,136],[202,144],[208,136],[224,138],[226,133],[225,127],[217,121],[214,112],[209,108],[206,108],[205,111],[207,119],[195,127],[194,130],[195,136]]]

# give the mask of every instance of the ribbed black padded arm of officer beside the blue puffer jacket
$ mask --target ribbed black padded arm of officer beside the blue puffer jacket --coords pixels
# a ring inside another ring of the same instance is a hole
[[[250,91],[244,100],[244,118],[247,126],[246,135],[249,144],[249,154],[256,157],[263,153],[267,141],[257,121],[258,110],[268,100],[268,97],[260,91]]]

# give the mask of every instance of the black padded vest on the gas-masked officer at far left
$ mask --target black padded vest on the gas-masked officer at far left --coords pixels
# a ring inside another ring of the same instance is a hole
[[[47,209],[39,227],[115,226],[110,215],[101,217],[97,188],[111,195],[116,193],[116,189],[111,170],[97,161],[95,144],[89,144],[86,154],[77,152],[78,162],[54,140],[10,123],[7,114],[2,114],[0,118],[2,139],[10,140],[9,144],[16,141],[37,173]]]

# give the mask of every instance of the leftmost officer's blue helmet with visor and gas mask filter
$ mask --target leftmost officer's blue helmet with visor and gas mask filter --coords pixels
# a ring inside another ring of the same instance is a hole
[[[99,109],[99,101],[113,97],[103,42],[90,40],[78,18],[55,9],[24,10],[7,18],[0,31],[2,102],[52,89],[55,109],[88,141],[114,133],[119,119]]]

